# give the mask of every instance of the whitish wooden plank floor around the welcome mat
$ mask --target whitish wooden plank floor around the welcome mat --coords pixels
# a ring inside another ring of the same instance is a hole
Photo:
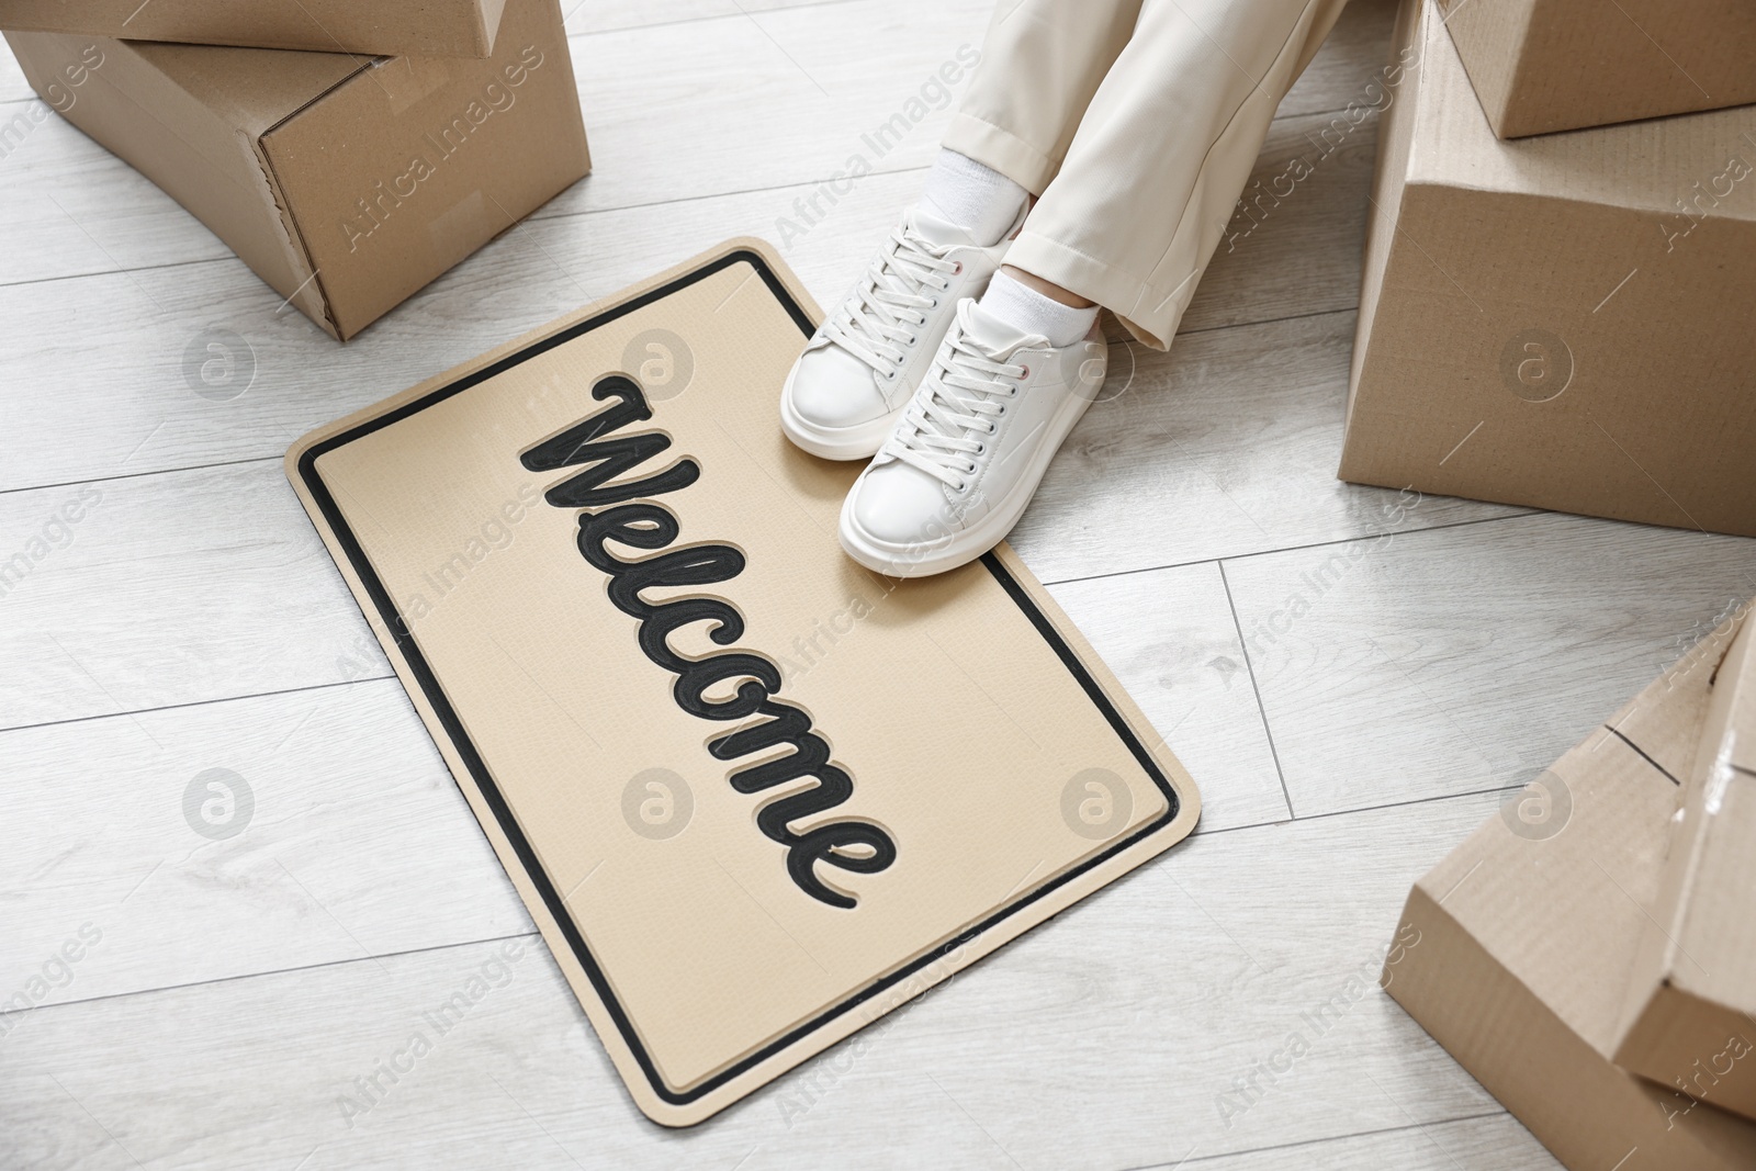
[[[1371,976],[1408,885],[1507,788],[1756,593],[1751,541],[1335,479],[1371,123],[1213,265],[1169,356],[1117,342],[1120,393],[1015,534],[1199,781],[1196,836],[688,1132],[629,1104],[281,476],[321,421],[778,239],[987,7],[587,0],[597,174],[348,346],[60,119],[0,158],[0,560],[46,548],[0,597],[0,1001],[39,1001],[0,1015],[0,1166],[1556,1166],[1375,988],[1227,1097]],[[1387,40],[1387,0],[1356,0],[1264,172]],[[0,123],[28,100],[0,61]],[[790,244],[820,300],[946,118]],[[207,327],[248,339],[248,393],[191,393]],[[205,769],[253,792],[242,834],[184,820]],[[346,1118],[506,939],[530,945],[511,980]]]

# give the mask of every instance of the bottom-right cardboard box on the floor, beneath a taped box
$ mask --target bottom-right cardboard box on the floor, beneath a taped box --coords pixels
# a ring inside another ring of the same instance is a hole
[[[1573,1171],[1756,1167],[1756,1125],[1610,1060],[1668,823],[1737,623],[1415,883],[1389,994]]]

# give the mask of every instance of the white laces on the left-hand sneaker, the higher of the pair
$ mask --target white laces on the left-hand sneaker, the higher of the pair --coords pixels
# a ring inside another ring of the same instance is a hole
[[[824,321],[824,337],[894,383],[927,311],[938,307],[950,277],[962,270],[962,262],[945,260],[946,248],[899,223],[866,277]]]

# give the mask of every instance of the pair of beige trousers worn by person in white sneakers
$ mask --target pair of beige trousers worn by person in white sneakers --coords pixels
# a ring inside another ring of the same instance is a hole
[[[1040,193],[1006,263],[1164,349],[1347,0],[1001,0],[945,146]]]

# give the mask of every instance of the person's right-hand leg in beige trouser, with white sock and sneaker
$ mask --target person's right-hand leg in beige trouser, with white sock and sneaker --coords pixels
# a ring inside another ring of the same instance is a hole
[[[941,572],[1006,535],[1103,381],[1096,305],[1147,344],[1169,342],[1275,107],[1343,2],[1145,0],[1059,169],[1041,137],[1034,174],[1027,144],[999,128],[966,142],[976,162],[1048,181],[1006,255],[1013,272],[959,307],[848,493],[841,544],[855,560]]]

